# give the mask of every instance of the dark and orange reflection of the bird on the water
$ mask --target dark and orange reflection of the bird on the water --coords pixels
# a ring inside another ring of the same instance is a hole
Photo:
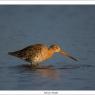
[[[24,72],[36,72],[42,77],[48,77],[51,79],[58,79],[59,78],[59,72],[56,68],[54,68],[53,65],[40,65],[37,67],[31,67],[31,65],[25,64],[25,65],[20,65],[20,68],[23,68]]]

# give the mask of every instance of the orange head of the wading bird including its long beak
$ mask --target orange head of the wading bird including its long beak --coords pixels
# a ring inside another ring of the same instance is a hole
[[[70,53],[64,51],[63,49],[60,48],[59,45],[57,44],[53,44],[50,46],[50,49],[53,51],[53,52],[57,52],[57,53],[60,53],[62,54],[63,56],[66,56],[66,57],[69,57],[71,59],[73,59],[74,61],[78,61],[78,58],[75,58],[73,57]]]

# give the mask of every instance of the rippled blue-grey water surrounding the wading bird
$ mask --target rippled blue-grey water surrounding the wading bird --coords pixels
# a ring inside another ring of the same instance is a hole
[[[8,55],[30,44],[58,43],[79,61],[55,54],[32,69]],[[95,6],[0,6],[0,90],[95,90]]]

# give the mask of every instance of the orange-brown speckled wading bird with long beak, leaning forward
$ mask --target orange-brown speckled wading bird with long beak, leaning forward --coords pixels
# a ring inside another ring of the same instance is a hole
[[[51,58],[54,53],[60,53],[75,61],[78,61],[77,58],[74,58],[69,53],[62,50],[57,44],[53,44],[50,47],[44,44],[34,44],[15,52],[9,52],[8,54],[24,59],[30,62],[31,65],[36,66],[39,63]]]

